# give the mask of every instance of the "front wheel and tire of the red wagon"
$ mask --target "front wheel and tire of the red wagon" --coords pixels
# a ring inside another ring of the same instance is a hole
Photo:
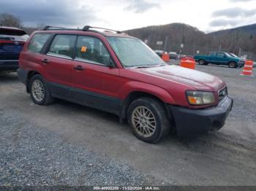
[[[170,132],[165,107],[154,98],[143,97],[133,101],[129,105],[127,118],[132,133],[148,143],[157,143]]]

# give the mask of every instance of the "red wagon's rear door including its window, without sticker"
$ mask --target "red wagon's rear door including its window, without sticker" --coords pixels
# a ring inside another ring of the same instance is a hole
[[[76,35],[56,34],[46,55],[42,56],[45,79],[50,92],[60,98],[70,98],[72,57]]]

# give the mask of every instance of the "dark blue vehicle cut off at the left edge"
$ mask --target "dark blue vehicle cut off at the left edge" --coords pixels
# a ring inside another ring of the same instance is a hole
[[[19,28],[0,26],[0,71],[16,71],[23,45],[29,35]]]

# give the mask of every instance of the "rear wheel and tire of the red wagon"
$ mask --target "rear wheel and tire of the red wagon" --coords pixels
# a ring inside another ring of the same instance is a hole
[[[29,92],[35,104],[46,106],[53,103],[53,97],[41,75],[36,74],[29,82]]]

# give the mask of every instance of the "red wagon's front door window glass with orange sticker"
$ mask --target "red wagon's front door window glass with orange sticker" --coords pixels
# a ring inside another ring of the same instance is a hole
[[[110,55],[99,39],[91,36],[78,36],[75,59],[107,66]]]

